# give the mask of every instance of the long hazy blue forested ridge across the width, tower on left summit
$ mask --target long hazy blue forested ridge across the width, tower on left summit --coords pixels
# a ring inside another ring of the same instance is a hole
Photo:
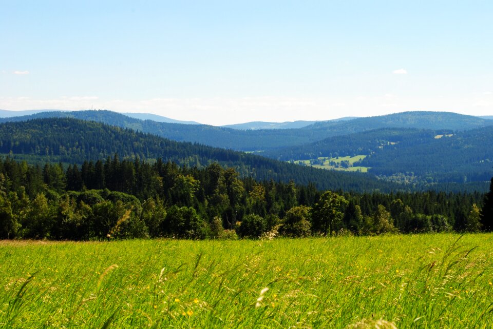
[[[0,122],[33,118],[73,117],[131,128],[177,141],[241,151],[272,150],[305,145],[327,137],[348,135],[378,128],[404,127],[431,130],[469,130],[493,125],[493,120],[445,112],[405,112],[387,116],[326,121],[300,129],[237,130],[207,125],[182,125],[139,120],[111,111],[43,112],[30,116],[2,118]]]

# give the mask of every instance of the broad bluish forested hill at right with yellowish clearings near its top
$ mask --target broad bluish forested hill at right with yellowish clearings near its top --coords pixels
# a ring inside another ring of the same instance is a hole
[[[486,188],[493,173],[492,140],[493,126],[456,133],[388,128],[263,155],[283,161],[365,155],[357,166],[375,175],[412,175],[426,182],[484,182]]]

